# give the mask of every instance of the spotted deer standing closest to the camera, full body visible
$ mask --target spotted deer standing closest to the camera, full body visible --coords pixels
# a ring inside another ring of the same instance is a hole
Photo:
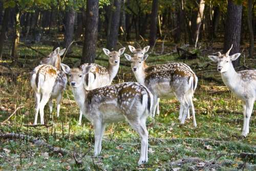
[[[153,95],[137,82],[124,82],[93,90],[84,88],[91,67],[71,69],[69,82],[82,114],[94,125],[94,155],[101,153],[101,141],[108,123],[126,120],[141,137],[138,164],[148,161],[146,118],[152,113]]]

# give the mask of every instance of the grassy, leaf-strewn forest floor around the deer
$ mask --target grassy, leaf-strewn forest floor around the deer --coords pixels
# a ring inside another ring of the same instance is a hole
[[[35,44],[38,51],[49,54],[51,46]],[[6,47],[7,48],[7,47]],[[73,55],[81,54],[75,45]],[[98,58],[108,59],[101,49]],[[168,51],[168,50],[166,50]],[[9,52],[6,50],[6,54]],[[216,51],[215,51],[216,52]],[[125,53],[129,53],[126,49]],[[148,119],[148,163],[138,166],[140,138],[125,123],[106,127],[102,152],[93,157],[94,133],[92,124],[82,119],[77,125],[79,109],[71,89],[67,86],[61,103],[60,117],[49,118],[47,126],[28,126],[33,123],[35,101],[30,87],[30,72],[38,65],[38,53],[20,46],[19,67],[11,67],[10,58],[0,61],[0,136],[7,133],[24,134],[24,139],[0,138],[0,170],[256,170],[256,103],[250,121],[250,133],[241,137],[243,115],[241,101],[222,83],[216,64],[199,53],[193,60],[184,60],[198,75],[199,83],[194,97],[197,127],[192,120],[180,125],[179,102],[161,99],[160,115]],[[148,65],[181,61],[176,53],[150,54]],[[246,63],[243,63],[245,61]],[[96,60],[100,65],[108,63]],[[114,83],[135,80],[130,62],[121,56],[122,64]],[[65,57],[63,63],[78,66],[79,59]],[[242,57],[241,64],[256,68],[256,60]],[[3,66],[5,65],[5,67]],[[242,70],[243,68],[239,68]],[[20,107],[19,109],[17,109]],[[4,122],[14,111],[16,113]],[[45,143],[32,140],[39,138]],[[50,146],[62,151],[53,151]],[[65,151],[66,150],[66,151]],[[243,154],[245,153],[245,154]],[[73,154],[76,156],[76,162]]]

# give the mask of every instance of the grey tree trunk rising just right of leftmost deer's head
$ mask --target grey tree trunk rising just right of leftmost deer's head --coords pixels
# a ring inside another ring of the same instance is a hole
[[[70,8],[66,12],[66,22],[65,22],[65,37],[64,37],[64,47],[67,49],[74,36],[74,25],[75,25],[75,10]],[[69,49],[69,52],[71,48]]]

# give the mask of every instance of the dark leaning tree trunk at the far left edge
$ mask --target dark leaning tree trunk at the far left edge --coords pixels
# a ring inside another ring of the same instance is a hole
[[[5,41],[5,34],[8,29],[8,23],[10,19],[10,8],[5,9],[3,24],[2,24],[2,30],[0,34],[0,59],[2,59],[3,55],[3,48],[4,48],[4,41]]]

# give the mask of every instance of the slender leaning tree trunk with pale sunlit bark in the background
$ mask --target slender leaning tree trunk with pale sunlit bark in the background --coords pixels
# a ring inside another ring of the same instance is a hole
[[[190,45],[195,45],[199,36],[200,25],[202,24],[204,14],[204,4],[204,0],[197,0],[196,5],[198,5],[198,8],[196,8],[196,11],[193,12],[193,16],[191,18],[191,35],[189,36]]]

